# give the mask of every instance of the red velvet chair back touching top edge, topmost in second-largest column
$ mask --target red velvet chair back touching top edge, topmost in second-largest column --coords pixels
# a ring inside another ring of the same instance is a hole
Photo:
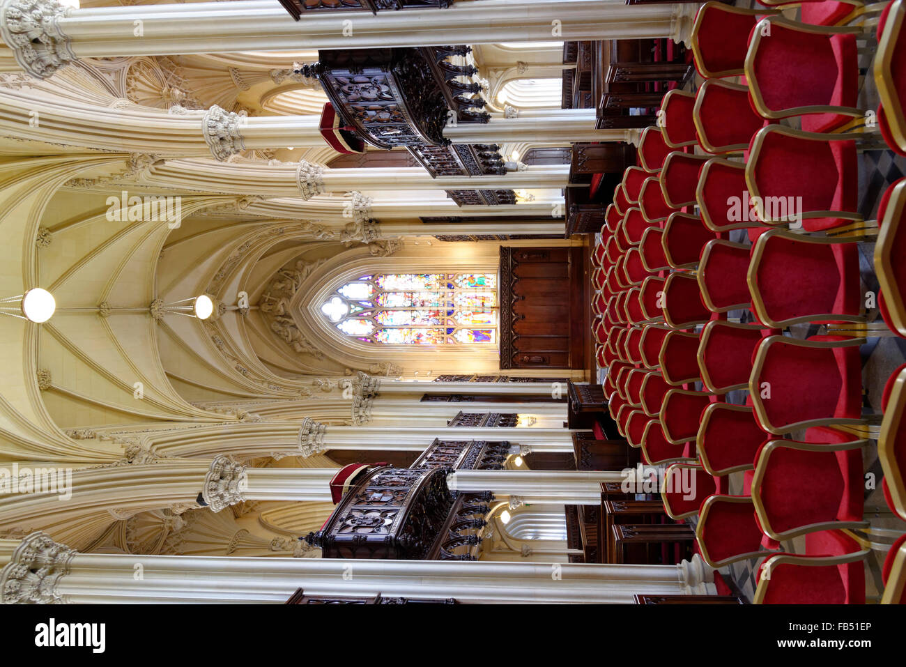
[[[746,62],[748,34],[755,26],[757,16],[734,14],[720,5],[703,7],[699,9],[699,14],[701,21],[697,42],[701,62],[697,60],[695,63],[699,73],[702,69],[711,73],[742,70]]]

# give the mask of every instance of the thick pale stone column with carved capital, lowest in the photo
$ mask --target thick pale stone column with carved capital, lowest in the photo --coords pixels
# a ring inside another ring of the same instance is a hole
[[[706,594],[698,564],[80,554],[34,533],[0,540],[0,603],[273,603],[325,596],[456,598],[460,603],[620,603],[634,594]],[[136,565],[141,576],[136,577]],[[352,572],[353,576],[349,576]],[[345,573],[345,575],[344,575]],[[711,573],[713,575],[713,573]]]

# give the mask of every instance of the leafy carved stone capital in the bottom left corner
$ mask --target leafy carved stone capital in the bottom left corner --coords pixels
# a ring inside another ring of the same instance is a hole
[[[57,591],[57,585],[61,577],[69,574],[75,554],[74,549],[41,532],[25,537],[0,570],[0,603],[68,603]]]

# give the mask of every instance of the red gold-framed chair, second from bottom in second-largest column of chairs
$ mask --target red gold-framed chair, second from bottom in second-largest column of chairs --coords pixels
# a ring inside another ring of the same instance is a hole
[[[696,438],[701,466],[715,476],[753,469],[767,438],[750,406],[711,403],[701,413]]]

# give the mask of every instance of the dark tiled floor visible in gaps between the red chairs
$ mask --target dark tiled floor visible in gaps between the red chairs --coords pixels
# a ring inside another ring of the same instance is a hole
[[[739,6],[753,6],[752,0],[740,0]],[[791,16],[795,17],[795,16]],[[862,45],[863,42],[860,42]],[[860,58],[860,66],[863,67],[864,76],[861,80],[861,90],[859,105],[863,109],[877,109],[877,91],[872,80],[871,70],[872,54],[864,54]],[[700,79],[689,82],[687,88],[694,91]],[[785,121],[786,122],[786,121]],[[790,122],[796,125],[795,121]],[[875,135],[879,137],[880,134]],[[875,218],[878,203],[882,198],[885,189],[892,182],[901,179],[906,172],[906,159],[896,155],[892,150],[868,150],[863,152],[859,158],[859,211],[865,218]],[[745,230],[736,230],[731,236],[731,240],[746,242],[747,236]],[[860,244],[860,269],[863,281],[863,290],[867,293],[878,293],[878,280],[874,273],[873,267],[873,249],[872,243]],[[881,320],[877,308],[869,309],[866,313],[869,321]],[[728,313],[730,317],[740,317],[742,321],[751,321],[752,315],[748,311],[737,311]],[[805,338],[820,333],[816,325],[797,325],[791,327],[787,332],[796,338]],[[871,414],[872,412],[881,412],[881,396],[884,384],[890,378],[894,369],[906,362],[906,340],[895,336],[872,337],[861,347],[863,359],[863,389],[864,408],[863,412]],[[699,387],[700,389],[700,387]],[[728,394],[727,400],[732,403],[744,403],[746,401],[747,391],[732,391]],[[795,437],[795,434],[794,434]],[[875,489],[867,488],[865,493],[865,517],[872,522],[872,529],[890,529],[892,531],[903,532],[906,530],[906,524],[898,519],[891,517],[890,512],[884,503],[881,492],[882,470],[877,456],[877,442],[872,440],[869,446],[864,450],[864,465],[866,471],[866,486],[872,486],[874,482]],[[742,492],[742,473],[730,476],[730,493],[740,494]],[[876,511],[878,510],[878,511]],[[866,565],[866,593],[869,600],[875,596],[880,596],[882,591],[881,568],[884,557],[894,537],[891,535],[874,534],[868,536],[864,533],[857,533],[863,538],[869,539],[874,543],[872,556],[868,559]],[[783,549],[793,553],[803,553],[805,538],[799,537],[783,544]],[[761,561],[741,561],[723,568],[722,572],[730,579],[739,591],[751,601],[755,592],[755,573],[757,566]]]

